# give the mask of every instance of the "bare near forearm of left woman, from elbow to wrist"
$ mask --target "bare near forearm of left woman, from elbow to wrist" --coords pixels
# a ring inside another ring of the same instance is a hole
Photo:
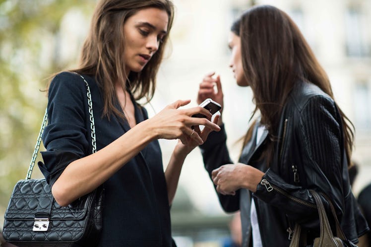
[[[156,136],[146,121],[98,152],[70,163],[52,187],[60,205],[67,205],[108,180]]]

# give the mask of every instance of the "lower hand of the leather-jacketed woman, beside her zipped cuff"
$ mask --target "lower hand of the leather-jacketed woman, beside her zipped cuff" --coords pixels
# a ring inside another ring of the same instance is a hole
[[[216,190],[224,195],[234,195],[236,190],[247,188],[255,192],[264,173],[242,163],[223,165],[211,173]]]

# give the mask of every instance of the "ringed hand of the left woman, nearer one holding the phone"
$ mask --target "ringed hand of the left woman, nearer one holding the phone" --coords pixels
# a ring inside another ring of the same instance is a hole
[[[206,109],[199,106],[189,109],[178,109],[181,106],[186,106],[189,102],[190,100],[178,100],[148,120],[157,139],[180,139],[184,144],[187,144],[191,139],[202,144],[203,140],[197,133],[198,131],[193,131],[191,126],[204,125],[211,130],[220,130],[217,124],[210,121],[212,115]],[[206,116],[206,118],[191,117],[198,113]]]

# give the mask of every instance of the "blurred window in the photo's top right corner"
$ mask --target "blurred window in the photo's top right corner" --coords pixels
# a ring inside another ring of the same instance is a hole
[[[361,10],[349,7],[345,15],[346,50],[349,57],[366,57],[369,49],[365,39],[364,18]]]

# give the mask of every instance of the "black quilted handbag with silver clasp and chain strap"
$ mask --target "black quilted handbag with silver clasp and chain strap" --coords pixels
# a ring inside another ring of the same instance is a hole
[[[84,77],[81,78],[87,87],[94,153],[95,125],[90,88]],[[68,206],[61,207],[53,198],[45,179],[31,179],[47,118],[45,112],[27,177],[17,182],[11,194],[4,217],[3,237],[19,247],[96,246],[102,230],[103,189],[98,187]]]

